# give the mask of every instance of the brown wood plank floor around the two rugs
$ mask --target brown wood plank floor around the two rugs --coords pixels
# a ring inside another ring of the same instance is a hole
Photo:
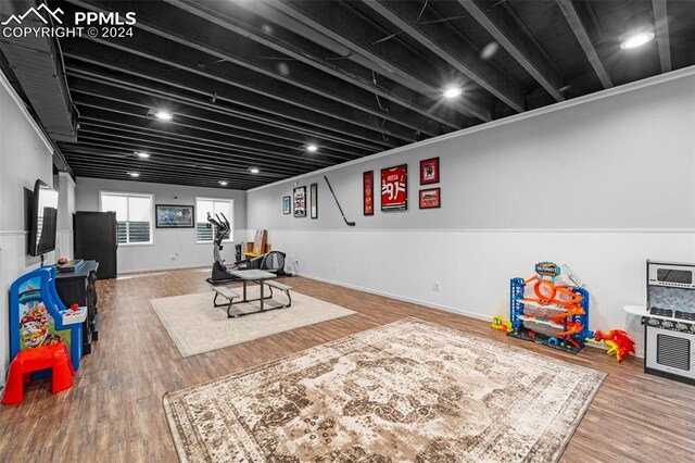
[[[609,374],[565,451],[564,462],[693,461],[695,387],[644,375],[587,348],[569,355],[506,337],[482,321],[305,278],[294,290],[358,314],[182,359],[150,299],[210,290],[207,270],[129,275],[98,283],[102,327],[75,386],[52,396],[28,385],[21,405],[0,408],[0,461],[170,462],[176,453],[162,408],[166,391],[198,385],[405,316],[603,370]]]

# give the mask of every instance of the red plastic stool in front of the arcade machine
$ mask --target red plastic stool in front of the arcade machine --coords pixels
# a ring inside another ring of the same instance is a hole
[[[16,354],[10,364],[10,375],[4,387],[2,403],[21,403],[24,385],[31,380],[30,374],[41,370],[52,370],[52,392],[58,393],[73,386],[75,370],[70,360],[67,347],[63,342],[25,349]]]

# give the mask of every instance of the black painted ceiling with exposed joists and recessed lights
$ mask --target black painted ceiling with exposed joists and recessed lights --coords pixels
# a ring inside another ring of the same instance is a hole
[[[60,40],[86,177],[249,189],[695,64],[690,0],[49,5],[137,13],[134,37]],[[640,14],[657,38],[621,50]]]

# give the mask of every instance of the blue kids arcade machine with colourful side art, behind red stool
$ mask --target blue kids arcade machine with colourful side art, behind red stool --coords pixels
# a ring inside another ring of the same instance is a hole
[[[63,342],[73,367],[83,354],[83,322],[87,308],[63,304],[55,291],[55,267],[46,266],[17,278],[10,288],[10,356],[25,349]],[[46,377],[37,372],[33,378]]]

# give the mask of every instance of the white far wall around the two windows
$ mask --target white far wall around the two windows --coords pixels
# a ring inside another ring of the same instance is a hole
[[[100,191],[151,193],[154,196],[154,204],[195,205],[197,197],[233,199],[235,216],[231,221],[235,229],[233,240],[242,241],[247,237],[247,199],[244,191],[77,177],[75,189],[76,210],[99,211]],[[213,245],[197,243],[193,228],[154,228],[153,230],[153,245],[121,245],[118,247],[118,273],[205,265],[211,265],[212,267]],[[227,261],[233,261],[233,246],[227,245],[223,250],[223,258]]]

